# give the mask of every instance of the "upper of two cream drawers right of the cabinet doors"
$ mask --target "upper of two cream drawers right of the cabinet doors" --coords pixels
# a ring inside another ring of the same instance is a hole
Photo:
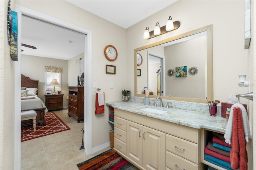
[[[198,164],[198,144],[166,134],[166,150]]]

